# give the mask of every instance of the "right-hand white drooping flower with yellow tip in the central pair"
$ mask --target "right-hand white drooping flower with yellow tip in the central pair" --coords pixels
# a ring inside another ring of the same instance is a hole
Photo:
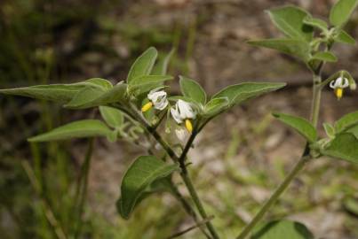
[[[195,119],[196,112],[191,104],[179,99],[177,104],[171,108],[171,116],[178,124],[184,122],[185,127],[187,127],[187,131],[190,133],[193,131],[193,124],[191,120]]]

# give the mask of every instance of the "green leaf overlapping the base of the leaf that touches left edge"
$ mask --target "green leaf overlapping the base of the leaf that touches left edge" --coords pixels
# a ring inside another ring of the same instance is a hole
[[[126,97],[127,84],[119,82],[112,89],[84,89],[77,93],[71,102],[65,104],[70,109],[86,109],[99,105],[121,102]]]

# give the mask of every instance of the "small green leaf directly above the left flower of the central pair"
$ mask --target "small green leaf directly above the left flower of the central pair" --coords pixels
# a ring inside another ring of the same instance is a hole
[[[129,85],[128,90],[135,95],[139,95],[159,87],[159,83],[162,83],[163,81],[171,81],[172,79],[173,77],[171,75],[139,76],[131,81],[131,85]]]

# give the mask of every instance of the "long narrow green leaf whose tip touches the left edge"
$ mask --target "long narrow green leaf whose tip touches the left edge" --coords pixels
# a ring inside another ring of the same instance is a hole
[[[0,89],[0,93],[13,96],[26,96],[60,103],[70,101],[76,93],[88,84],[84,82],[74,84],[38,85],[14,89]]]

